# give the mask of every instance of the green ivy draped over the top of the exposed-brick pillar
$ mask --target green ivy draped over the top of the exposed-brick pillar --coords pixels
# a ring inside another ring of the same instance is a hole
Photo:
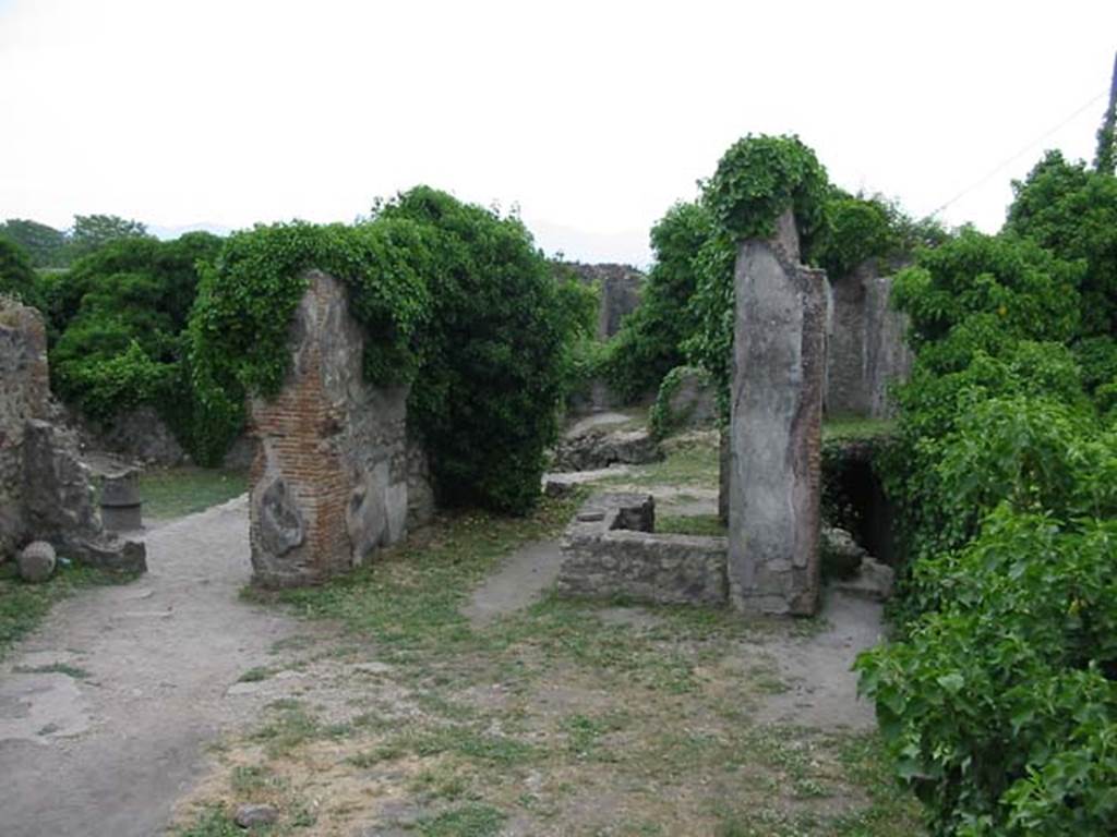
[[[230,235],[219,258],[201,267],[189,326],[199,461],[220,461],[244,425],[246,394],[273,395],[281,386],[290,363],[288,330],[311,268],[347,285],[352,314],[366,331],[369,379],[410,383],[429,308],[423,277],[433,263],[430,238],[407,221],[294,222]]]

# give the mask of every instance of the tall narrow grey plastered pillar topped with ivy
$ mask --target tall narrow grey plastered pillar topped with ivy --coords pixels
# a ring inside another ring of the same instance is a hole
[[[748,613],[805,616],[819,600],[828,290],[799,259],[790,211],[737,250],[729,597]]]

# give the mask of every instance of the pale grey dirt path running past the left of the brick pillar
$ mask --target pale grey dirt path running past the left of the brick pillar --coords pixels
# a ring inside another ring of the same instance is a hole
[[[245,499],[147,536],[151,571],[59,604],[0,667],[4,837],[161,834],[202,748],[258,711],[227,695],[294,623],[238,600]]]

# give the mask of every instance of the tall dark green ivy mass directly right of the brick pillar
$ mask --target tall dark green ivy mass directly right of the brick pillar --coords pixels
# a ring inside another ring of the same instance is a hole
[[[537,501],[557,434],[564,359],[579,306],[560,295],[531,233],[419,186],[376,208],[433,233],[423,373],[409,416],[427,441],[443,502],[524,512]],[[583,333],[584,336],[584,333]]]

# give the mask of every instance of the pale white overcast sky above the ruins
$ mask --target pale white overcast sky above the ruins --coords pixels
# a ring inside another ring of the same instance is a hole
[[[1091,157],[1117,2],[0,0],[0,218],[351,221],[417,183],[584,261],[750,132],[995,230],[1043,147]]]

